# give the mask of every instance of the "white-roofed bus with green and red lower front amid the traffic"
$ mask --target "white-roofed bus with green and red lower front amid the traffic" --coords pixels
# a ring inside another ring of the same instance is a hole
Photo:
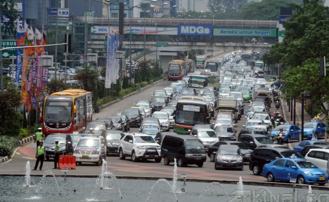
[[[181,135],[190,134],[195,124],[206,123],[207,113],[207,103],[204,98],[182,96],[177,102],[174,132]]]

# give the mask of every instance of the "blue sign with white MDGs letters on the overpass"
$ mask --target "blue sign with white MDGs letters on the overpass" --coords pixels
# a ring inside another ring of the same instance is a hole
[[[212,36],[211,25],[178,25],[178,35]]]

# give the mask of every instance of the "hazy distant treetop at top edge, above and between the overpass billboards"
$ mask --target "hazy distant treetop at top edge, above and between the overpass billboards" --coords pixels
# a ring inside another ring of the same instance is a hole
[[[246,4],[247,0],[209,0],[208,8],[212,12],[215,12],[215,10],[221,12],[232,12],[242,8]]]

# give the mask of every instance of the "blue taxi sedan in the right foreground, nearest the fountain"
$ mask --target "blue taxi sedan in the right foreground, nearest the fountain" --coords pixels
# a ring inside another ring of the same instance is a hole
[[[325,185],[328,174],[315,164],[301,158],[281,158],[264,165],[263,177],[268,181],[290,181],[296,179],[299,184]]]

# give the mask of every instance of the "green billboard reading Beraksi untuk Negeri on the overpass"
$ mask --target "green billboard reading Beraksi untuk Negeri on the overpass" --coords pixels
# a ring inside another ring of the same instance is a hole
[[[214,29],[214,36],[276,37],[276,29]]]

